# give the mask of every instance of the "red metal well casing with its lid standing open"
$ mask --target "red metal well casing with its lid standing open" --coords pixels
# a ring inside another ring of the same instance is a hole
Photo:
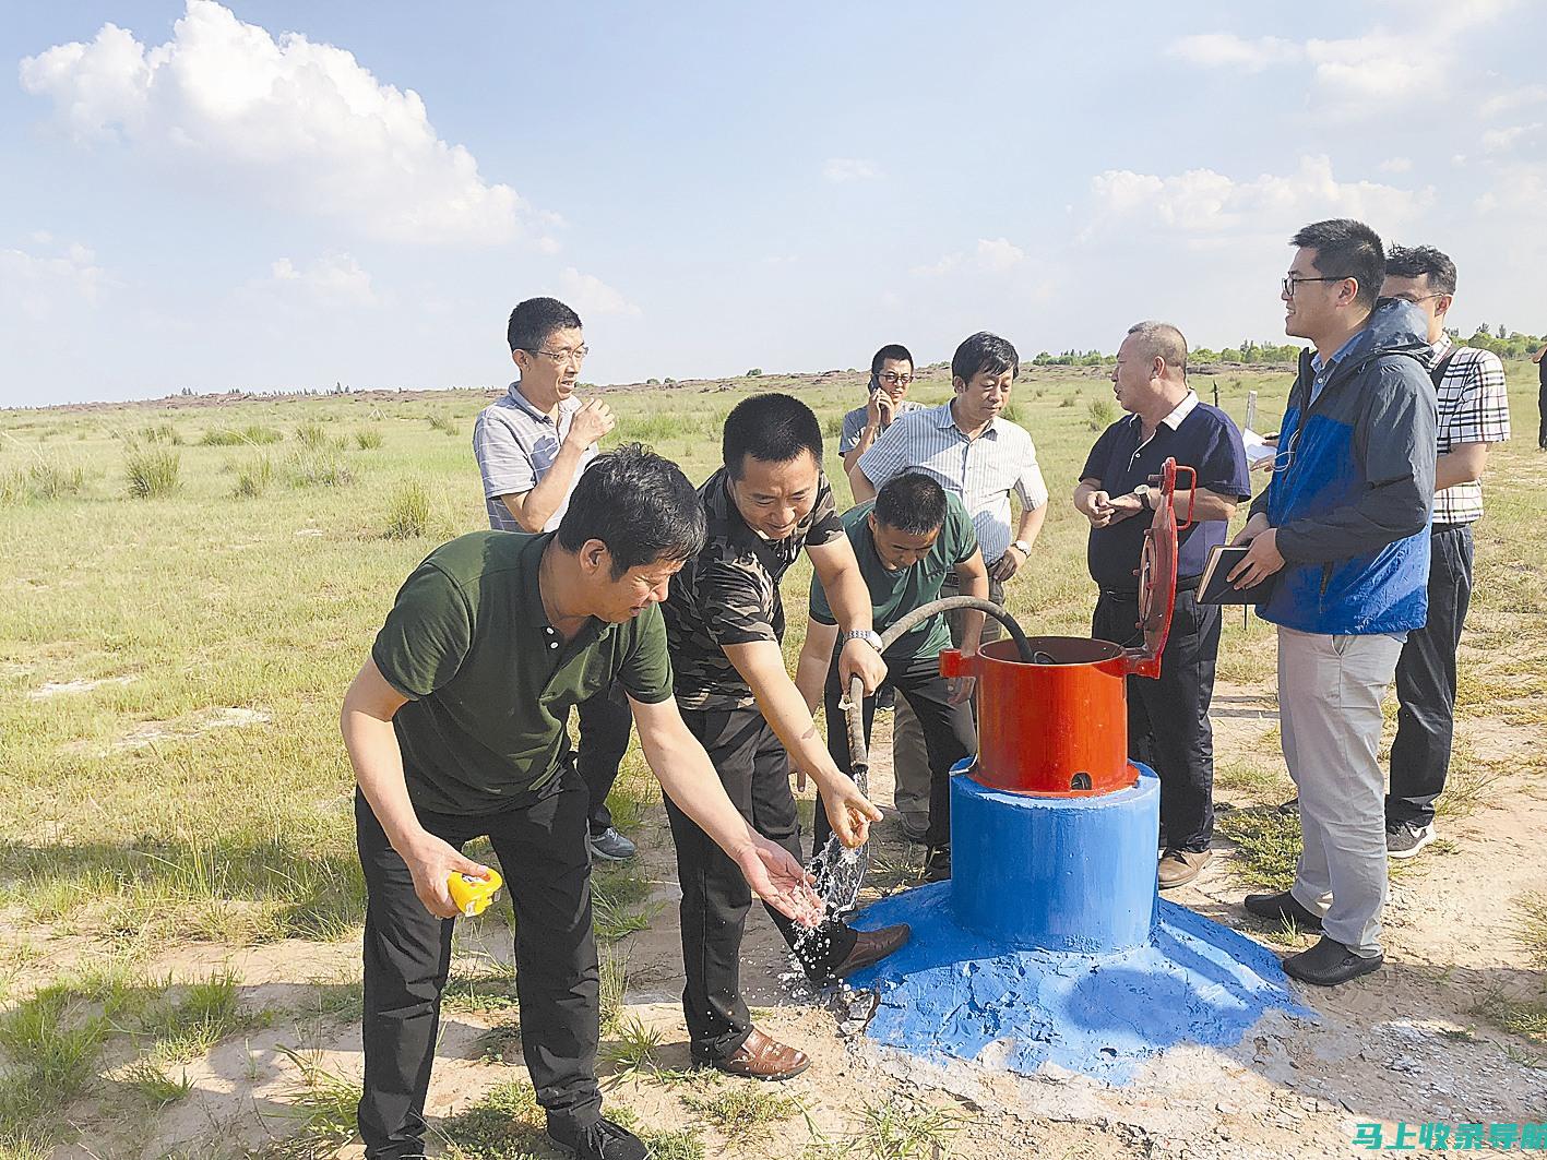
[[[1176,602],[1177,469],[1166,459],[1157,506],[1139,566],[1139,623],[1143,647],[1126,650],[1089,637],[1029,637],[1035,664],[1019,659],[1013,640],[985,645],[976,656],[948,648],[941,674],[978,679],[979,784],[1040,797],[1094,797],[1132,786],[1128,764],[1128,676],[1160,674],[1160,654]],[[1194,481],[1196,483],[1196,481]],[[1188,520],[1191,524],[1191,504]]]

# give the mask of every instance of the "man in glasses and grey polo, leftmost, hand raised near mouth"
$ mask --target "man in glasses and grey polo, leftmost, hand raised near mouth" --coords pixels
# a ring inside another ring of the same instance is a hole
[[[511,311],[511,359],[521,377],[473,424],[473,455],[484,484],[489,527],[497,532],[552,532],[597,441],[613,430],[613,408],[582,402],[575,382],[588,348],[580,316],[557,299],[528,299]],[[622,861],[637,852],[617,832],[606,795],[628,752],[633,716],[617,687],[583,702],[575,767],[591,793],[591,854]]]

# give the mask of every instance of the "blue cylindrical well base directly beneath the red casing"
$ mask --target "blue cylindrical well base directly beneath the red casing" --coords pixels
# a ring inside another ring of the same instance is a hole
[[[1081,954],[1149,942],[1160,781],[1046,798],[951,778],[951,905],[989,939]]]

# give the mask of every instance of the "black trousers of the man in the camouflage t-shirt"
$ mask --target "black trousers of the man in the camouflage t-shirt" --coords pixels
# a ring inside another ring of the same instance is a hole
[[[682,719],[709,750],[730,801],[764,838],[797,858],[800,821],[789,790],[789,756],[756,708],[682,710]],[[667,798],[667,820],[678,852],[682,885],[682,1016],[695,1063],[733,1055],[752,1030],[741,998],[741,936],[752,909],[752,888],[741,869],[687,814]],[[815,931],[766,908],[806,974],[831,979],[854,950],[855,934],[828,920]]]

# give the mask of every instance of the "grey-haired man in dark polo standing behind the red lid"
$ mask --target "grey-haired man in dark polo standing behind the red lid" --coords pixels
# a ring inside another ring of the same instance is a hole
[[[1191,495],[1177,490],[1180,518],[1176,612],[1160,657],[1160,676],[1128,677],[1128,755],[1160,776],[1162,889],[1197,877],[1214,835],[1214,732],[1208,702],[1219,653],[1219,606],[1196,600],[1208,549],[1225,541],[1236,503],[1252,498],[1241,432],[1187,385],[1187,340],[1163,322],[1128,331],[1112,368],[1112,390],[1129,415],[1095,441],[1074,489],[1074,506],[1091,521],[1088,561],[1101,588],[1091,633],[1120,645],[1139,636],[1139,557],[1160,492],[1151,475],[1174,458],[1197,472]]]

